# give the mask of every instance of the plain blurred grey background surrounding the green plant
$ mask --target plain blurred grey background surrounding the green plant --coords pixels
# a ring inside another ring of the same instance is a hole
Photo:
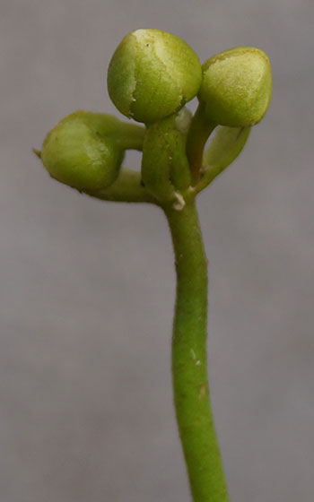
[[[239,45],[270,56],[271,108],[199,198],[209,373],[232,502],[313,500],[313,5],[1,3],[2,501],[189,499],[166,222],[153,207],[78,195],[31,154],[74,109],[116,113],[106,67],[140,27],[176,33],[201,60]]]

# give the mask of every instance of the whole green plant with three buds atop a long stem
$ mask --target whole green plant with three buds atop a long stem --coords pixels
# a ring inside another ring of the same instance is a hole
[[[153,203],[165,213],[177,271],[172,376],[179,437],[193,500],[226,502],[207,382],[207,262],[196,195],[238,157],[265,115],[269,61],[257,48],[232,48],[201,66],[178,37],[135,30],[112,56],[108,88],[116,107],[144,126],[81,110],[62,119],[36,153],[52,177],[84,194]],[[184,105],[196,95],[192,117]],[[143,151],[141,173],[121,168],[128,149]]]

